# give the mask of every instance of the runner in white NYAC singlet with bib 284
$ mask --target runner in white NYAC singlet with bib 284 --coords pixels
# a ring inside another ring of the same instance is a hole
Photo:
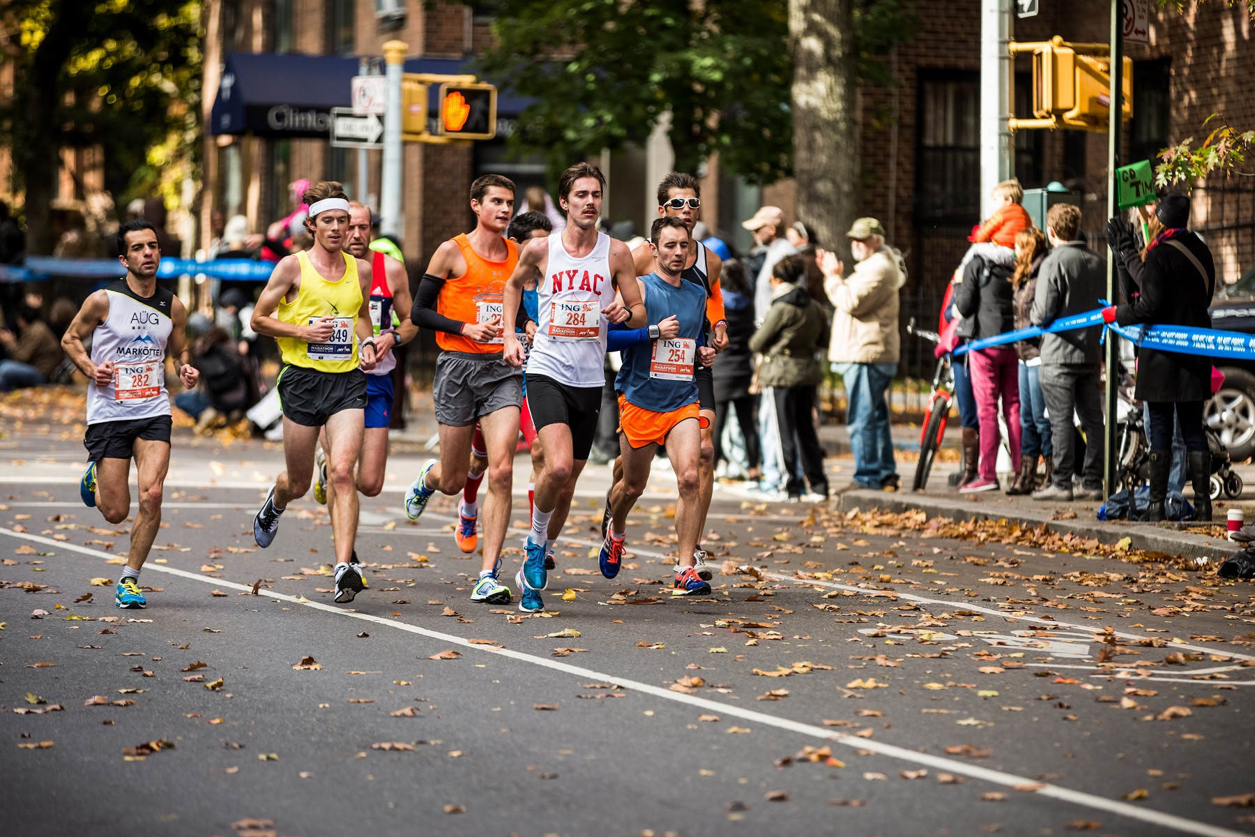
[[[520,609],[545,607],[540,591],[548,578],[545,555],[566,522],[575,482],[592,448],[605,384],[607,323],[645,325],[645,305],[628,245],[597,232],[605,177],[596,166],[577,163],[558,179],[558,203],[567,216],[561,235],[531,241],[506,284],[505,321],[513,323],[523,284],[536,286],[538,323],[527,358],[527,402],[545,448],[537,476],[532,531],[518,571]],[[619,301],[615,292],[622,295]],[[523,346],[508,329],[505,358],[518,366]]]

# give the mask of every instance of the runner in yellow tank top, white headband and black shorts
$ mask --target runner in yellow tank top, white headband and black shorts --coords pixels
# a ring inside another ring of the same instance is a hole
[[[270,275],[252,312],[252,329],[279,341],[284,368],[275,385],[284,405],[287,469],[254,517],[252,536],[267,547],[287,503],[304,497],[314,476],[319,430],[326,427],[328,479],[335,487],[335,601],[349,602],[365,586],[353,548],[358,533],[354,468],[365,429],[366,375],[376,358],[370,323],[370,265],[344,252],[349,201],[334,181],[305,192],[306,252],[285,256]],[[384,351],[387,351],[387,346]]]

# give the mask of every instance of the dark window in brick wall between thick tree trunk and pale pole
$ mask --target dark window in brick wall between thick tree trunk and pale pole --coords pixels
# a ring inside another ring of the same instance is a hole
[[[931,226],[980,218],[980,77],[921,70],[916,217]]]

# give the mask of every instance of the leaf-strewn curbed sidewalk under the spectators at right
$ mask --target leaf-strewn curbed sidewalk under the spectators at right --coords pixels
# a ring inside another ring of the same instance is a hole
[[[929,477],[927,488],[912,492],[909,486],[915,473],[915,463],[901,463],[899,473],[904,489],[900,492],[848,491],[835,499],[837,508],[882,508],[887,511],[922,509],[929,517],[950,517],[954,520],[1009,520],[1029,526],[1044,525],[1059,533],[1072,532],[1081,537],[1097,538],[1102,543],[1117,543],[1121,538],[1131,538],[1131,546],[1140,550],[1183,555],[1191,558],[1224,558],[1239,547],[1225,536],[1225,517],[1229,508],[1246,508],[1247,522],[1252,520],[1249,502],[1241,498],[1229,501],[1221,498],[1212,503],[1211,525],[1188,523],[1136,523],[1130,521],[1099,521],[1096,516],[1098,501],[1074,501],[1071,503],[1047,503],[1032,497],[1008,497],[1007,481],[1003,489],[979,494],[959,494],[950,488],[946,477],[958,469],[954,463],[935,463]],[[1255,478],[1255,467],[1236,468],[1242,479]],[[837,484],[841,484],[838,481]],[[1187,499],[1190,498],[1187,489]]]

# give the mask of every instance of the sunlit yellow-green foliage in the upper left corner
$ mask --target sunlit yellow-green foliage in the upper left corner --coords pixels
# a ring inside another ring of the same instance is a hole
[[[149,151],[172,136],[184,164],[191,162],[200,147],[200,3],[14,0],[10,9],[24,51],[14,97],[0,109],[0,143],[18,163],[15,187],[23,186],[23,161],[49,143],[100,146],[107,187],[119,202],[139,188],[146,195],[161,188],[163,177],[151,171]],[[67,55],[53,73],[36,72],[41,49]],[[34,136],[24,118],[31,97],[59,103],[58,136]]]

